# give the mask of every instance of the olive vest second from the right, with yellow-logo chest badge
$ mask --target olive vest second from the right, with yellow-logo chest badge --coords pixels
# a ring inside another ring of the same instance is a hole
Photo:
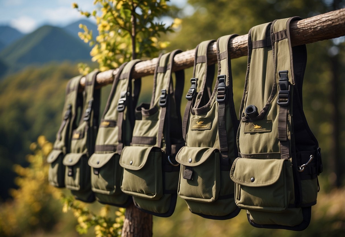
[[[191,212],[219,220],[233,218],[240,211],[234,202],[234,182],[229,179],[231,164],[237,157],[238,120],[228,51],[234,36],[217,40],[218,77],[213,90],[215,65],[207,65],[207,48],[214,40],[196,47],[194,78],[183,119],[186,146],[176,155],[181,164],[178,195]]]

